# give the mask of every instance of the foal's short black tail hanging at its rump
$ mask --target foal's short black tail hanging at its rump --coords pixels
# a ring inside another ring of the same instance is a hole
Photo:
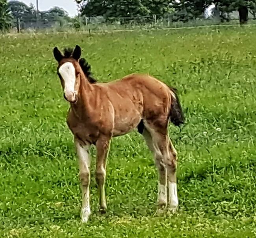
[[[170,120],[175,126],[180,126],[180,124],[185,123],[185,117],[182,112],[182,107],[180,104],[180,99],[178,98],[177,95],[177,89],[176,88],[171,88],[171,91],[173,92],[171,94],[172,99],[171,99],[171,111],[170,111]],[[173,94],[175,97],[173,97]]]

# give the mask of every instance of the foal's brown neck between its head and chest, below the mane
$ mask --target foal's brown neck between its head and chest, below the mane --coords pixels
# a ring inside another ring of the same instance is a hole
[[[78,90],[78,99],[77,102],[71,103],[71,108],[76,117],[83,118],[85,115],[88,114],[89,109],[89,99],[93,97],[94,93],[93,84],[91,84],[85,75],[81,74],[80,77],[80,87]]]

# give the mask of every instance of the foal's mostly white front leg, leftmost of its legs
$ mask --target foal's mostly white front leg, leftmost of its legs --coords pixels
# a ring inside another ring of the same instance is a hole
[[[79,159],[79,177],[82,188],[82,222],[87,222],[91,214],[90,209],[90,158],[89,158],[89,145],[81,146],[78,141],[75,140],[76,152]]]

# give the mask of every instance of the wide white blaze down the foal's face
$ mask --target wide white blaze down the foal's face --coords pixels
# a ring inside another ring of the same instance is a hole
[[[74,92],[76,82],[76,70],[71,62],[64,63],[59,67],[59,73],[65,82],[65,93]]]

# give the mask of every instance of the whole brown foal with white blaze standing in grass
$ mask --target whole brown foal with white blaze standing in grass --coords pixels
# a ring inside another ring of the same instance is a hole
[[[65,49],[62,54],[54,48],[58,75],[64,98],[70,102],[67,124],[74,135],[79,158],[82,185],[82,222],[91,214],[89,203],[89,146],[96,145],[96,182],[100,194],[100,211],[105,212],[104,183],[106,161],[112,137],[124,135],[137,127],[154,154],[159,170],[158,205],[178,206],[176,188],[177,152],[169,139],[168,121],[179,126],[184,123],[182,108],[176,92],[149,75],[133,74],[121,80],[97,83],[90,66],[80,59],[81,48]],[[167,192],[168,189],[168,192]],[[167,196],[168,194],[168,196]]]

